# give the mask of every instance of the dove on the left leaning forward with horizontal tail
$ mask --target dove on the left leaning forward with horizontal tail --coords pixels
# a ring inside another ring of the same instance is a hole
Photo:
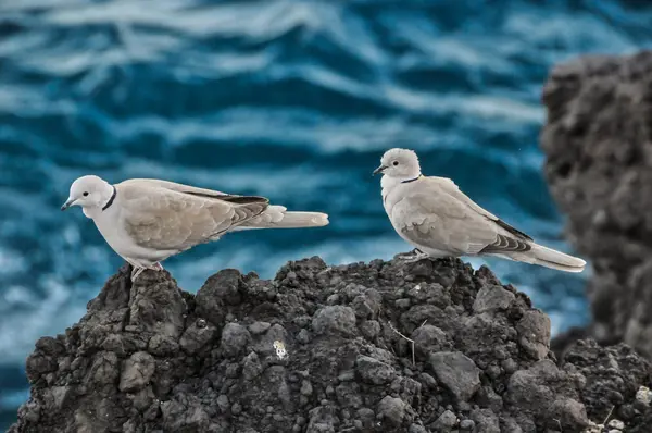
[[[133,267],[131,281],[146,269],[227,233],[258,228],[321,227],[328,215],[288,212],[256,196],[236,196],[174,182],[133,178],[111,185],[87,175],[73,182],[61,207],[79,206],[104,240]]]

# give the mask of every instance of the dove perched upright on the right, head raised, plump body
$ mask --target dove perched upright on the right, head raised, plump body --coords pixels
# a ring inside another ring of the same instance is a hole
[[[447,177],[424,176],[413,150],[391,149],[383,174],[383,203],[397,233],[416,248],[408,260],[490,256],[581,272],[586,261],[537,244],[475,203]]]

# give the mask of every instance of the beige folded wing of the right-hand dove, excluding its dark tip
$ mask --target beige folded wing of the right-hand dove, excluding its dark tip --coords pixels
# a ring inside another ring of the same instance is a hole
[[[412,194],[391,210],[394,227],[424,248],[476,255],[498,240],[496,224],[448,194]]]

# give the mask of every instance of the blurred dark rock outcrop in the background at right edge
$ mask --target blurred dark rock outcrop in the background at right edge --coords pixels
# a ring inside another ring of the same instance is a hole
[[[562,64],[543,102],[547,177],[594,268],[593,323],[570,339],[625,342],[652,359],[652,51]]]

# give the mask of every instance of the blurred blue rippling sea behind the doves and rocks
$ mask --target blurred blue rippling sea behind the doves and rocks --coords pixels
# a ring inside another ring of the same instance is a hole
[[[321,230],[226,236],[170,259],[197,290],[224,268],[390,259],[410,247],[371,172],[391,147],[572,251],[541,174],[540,94],[580,53],[652,42],[643,1],[0,1],[0,430],[24,361],[76,322],[122,264],[70,184],[160,177],[321,210]],[[472,260],[476,267],[481,260]],[[588,320],[585,279],[500,260],[551,314]]]

